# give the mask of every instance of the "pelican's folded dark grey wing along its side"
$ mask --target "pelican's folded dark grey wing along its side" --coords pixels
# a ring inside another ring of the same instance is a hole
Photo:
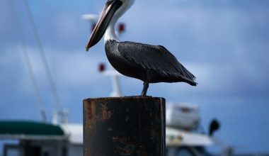
[[[182,77],[196,84],[195,76],[161,45],[122,42],[118,44],[118,51],[125,59],[144,69],[153,69],[160,74]]]

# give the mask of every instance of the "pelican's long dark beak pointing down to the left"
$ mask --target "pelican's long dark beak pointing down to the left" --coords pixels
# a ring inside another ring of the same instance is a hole
[[[86,51],[88,51],[89,48],[91,48],[93,45],[96,45],[96,43],[101,40],[106,28],[108,28],[108,24],[110,23],[111,18],[121,5],[122,1],[120,0],[108,0],[106,2],[105,7],[101,13],[101,17],[99,18],[96,27],[93,29],[93,33],[91,33],[90,40],[88,40]]]

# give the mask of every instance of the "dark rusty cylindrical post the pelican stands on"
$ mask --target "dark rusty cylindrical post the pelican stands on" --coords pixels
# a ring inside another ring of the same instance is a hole
[[[84,100],[84,156],[164,156],[165,99]]]

